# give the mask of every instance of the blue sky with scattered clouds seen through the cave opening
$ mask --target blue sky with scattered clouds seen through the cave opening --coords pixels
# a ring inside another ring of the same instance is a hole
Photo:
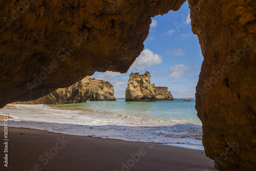
[[[131,72],[151,73],[151,83],[168,87],[175,98],[195,97],[203,56],[191,31],[188,3],[179,11],[152,18],[144,50],[126,74],[96,72],[91,78],[109,81],[117,98],[125,97]]]

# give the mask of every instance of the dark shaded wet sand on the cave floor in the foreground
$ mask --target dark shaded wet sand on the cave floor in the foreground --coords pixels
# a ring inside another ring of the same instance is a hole
[[[8,129],[7,168],[4,167],[3,162],[3,129],[0,127],[0,158],[2,160],[0,170],[214,170],[214,167],[209,164],[210,159],[205,156],[204,151],[200,150],[63,135],[22,128]],[[58,137],[69,142],[61,144],[57,140]],[[49,152],[49,156],[46,157]],[[140,156],[135,155],[133,159],[130,154],[135,153],[140,153]],[[130,166],[123,165],[127,162],[130,162]]]

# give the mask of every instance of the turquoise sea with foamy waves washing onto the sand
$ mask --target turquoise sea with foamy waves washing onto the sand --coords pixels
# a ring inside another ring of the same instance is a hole
[[[9,119],[9,127],[203,150],[195,100],[12,106],[16,108],[0,109],[0,114],[14,117]]]

